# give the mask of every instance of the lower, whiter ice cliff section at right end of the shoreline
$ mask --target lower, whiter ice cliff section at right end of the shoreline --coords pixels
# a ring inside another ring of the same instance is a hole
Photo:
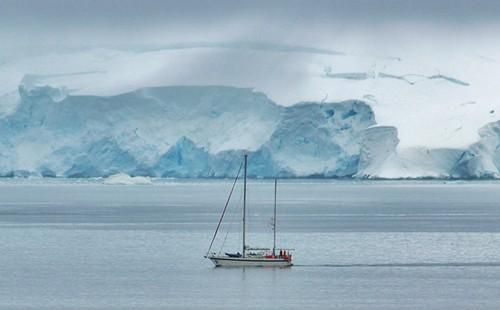
[[[378,136],[380,131],[392,134]],[[500,177],[500,121],[479,129],[480,139],[464,149],[397,148],[394,128],[365,131],[360,177],[492,179]]]

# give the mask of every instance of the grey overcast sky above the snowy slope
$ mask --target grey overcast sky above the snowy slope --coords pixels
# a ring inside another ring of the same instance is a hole
[[[335,49],[335,39],[461,36],[500,29],[500,1],[0,0],[4,48],[275,42]]]

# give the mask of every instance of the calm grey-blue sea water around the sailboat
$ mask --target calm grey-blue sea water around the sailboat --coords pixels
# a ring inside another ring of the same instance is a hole
[[[500,183],[283,181],[288,269],[203,258],[230,180],[0,181],[0,309],[499,309]],[[273,184],[248,240],[271,246]],[[239,250],[241,193],[214,250]]]

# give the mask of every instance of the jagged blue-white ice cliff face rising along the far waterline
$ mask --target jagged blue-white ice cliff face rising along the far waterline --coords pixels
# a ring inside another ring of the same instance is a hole
[[[26,81],[29,79],[25,79]],[[362,100],[281,106],[230,86],[145,87],[113,96],[22,83],[0,117],[0,176],[499,178],[500,121],[464,148],[402,147]]]

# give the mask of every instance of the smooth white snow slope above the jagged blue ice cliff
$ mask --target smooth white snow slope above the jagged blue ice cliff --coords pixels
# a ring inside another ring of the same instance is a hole
[[[479,128],[498,120],[495,77],[500,62],[495,55],[499,44],[466,40],[460,48],[450,49],[431,36],[422,39],[432,44],[421,47],[432,49],[420,50],[413,48],[414,38],[404,39],[411,41],[407,42],[410,49],[387,38],[377,40],[380,50],[364,46],[359,50],[350,48],[350,39],[336,38],[328,51],[338,53],[230,42],[200,46],[178,42],[180,45],[150,49],[77,48],[13,55],[1,65],[0,118],[16,110],[20,83],[25,89],[49,85],[57,89],[52,94],[56,101],[68,94],[111,97],[164,85],[228,85],[251,87],[280,106],[365,101],[379,125],[397,127],[399,148],[465,149],[477,142]],[[311,42],[316,45],[322,43]],[[422,126],[423,121],[432,126]],[[226,149],[233,148],[233,142]],[[254,149],[262,143],[255,141]],[[210,146],[211,152],[225,148],[214,147],[220,149]]]

